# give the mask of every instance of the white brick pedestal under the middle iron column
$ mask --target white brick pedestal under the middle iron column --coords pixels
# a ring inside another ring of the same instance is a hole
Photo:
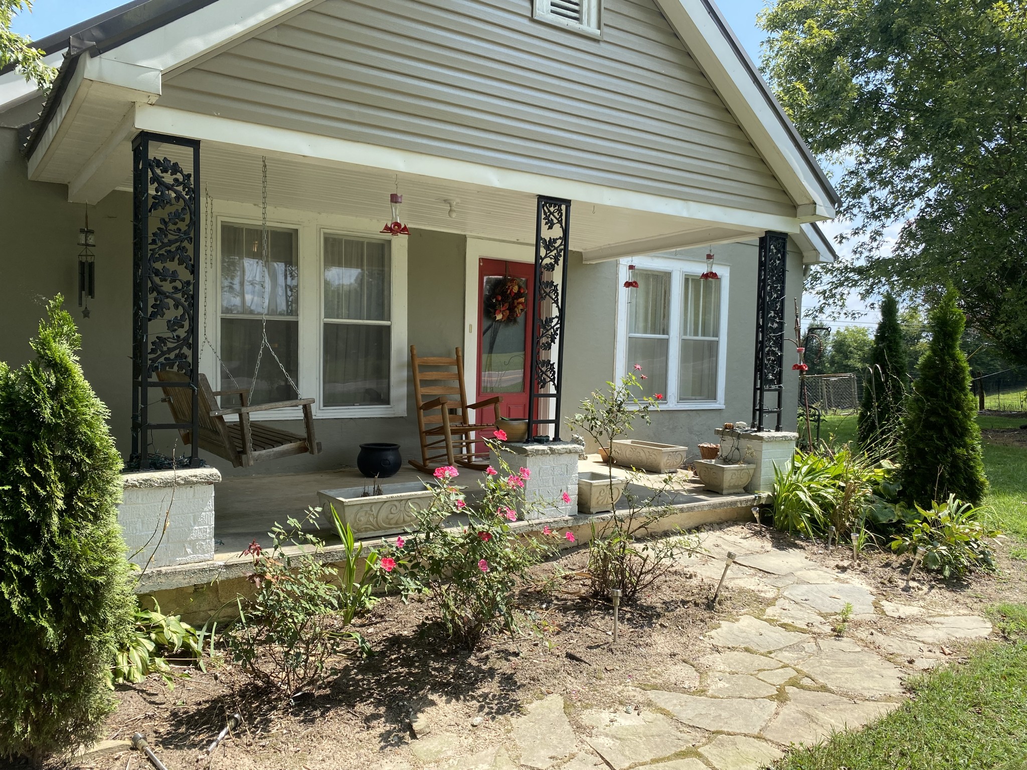
[[[577,513],[577,462],[581,445],[570,441],[549,444],[504,444],[500,457],[517,473],[522,467],[531,471],[524,484],[525,502],[521,513],[526,519],[570,516]],[[499,470],[499,457],[492,452],[492,465]],[[563,501],[567,493],[571,500]],[[532,505],[535,506],[530,510]]]

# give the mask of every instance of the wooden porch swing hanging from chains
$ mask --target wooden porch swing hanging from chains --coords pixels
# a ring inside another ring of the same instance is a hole
[[[181,372],[161,370],[157,372],[161,382],[188,382],[189,378]],[[164,400],[172,409],[176,422],[192,422],[192,391],[189,388],[162,388]],[[238,395],[241,407],[221,409],[217,396]],[[290,455],[320,453],[320,444],[314,438],[314,420],[310,410],[313,398],[298,398],[293,401],[273,401],[250,406],[250,391],[245,388],[235,390],[211,390],[206,375],[199,376],[199,448],[213,455],[224,458],[233,467],[249,467],[262,460],[277,460]],[[281,428],[272,427],[266,422],[251,422],[250,415],[254,412],[266,412],[272,409],[288,407],[303,407],[303,422],[306,435],[291,433]],[[238,415],[238,422],[225,422],[225,415]],[[180,430],[182,440],[192,444],[188,430]]]

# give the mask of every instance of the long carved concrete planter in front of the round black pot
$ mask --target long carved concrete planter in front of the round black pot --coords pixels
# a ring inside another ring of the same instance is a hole
[[[395,535],[405,532],[417,522],[415,511],[431,505],[431,490],[420,482],[384,484],[382,494],[362,497],[364,490],[321,490],[321,515],[332,522],[334,506],[343,524],[348,524],[353,537],[364,540],[371,537]]]

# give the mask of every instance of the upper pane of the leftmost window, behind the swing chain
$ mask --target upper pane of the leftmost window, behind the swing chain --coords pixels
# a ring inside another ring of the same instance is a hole
[[[259,227],[222,223],[221,311],[246,315],[299,314],[297,232],[267,229],[265,259]]]

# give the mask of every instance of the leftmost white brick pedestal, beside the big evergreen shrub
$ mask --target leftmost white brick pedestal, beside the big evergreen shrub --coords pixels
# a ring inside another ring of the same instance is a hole
[[[217,468],[122,475],[124,497],[118,506],[118,524],[129,561],[143,568],[149,562],[152,568],[213,559],[214,485],[220,480]],[[165,521],[167,530],[161,537]]]

